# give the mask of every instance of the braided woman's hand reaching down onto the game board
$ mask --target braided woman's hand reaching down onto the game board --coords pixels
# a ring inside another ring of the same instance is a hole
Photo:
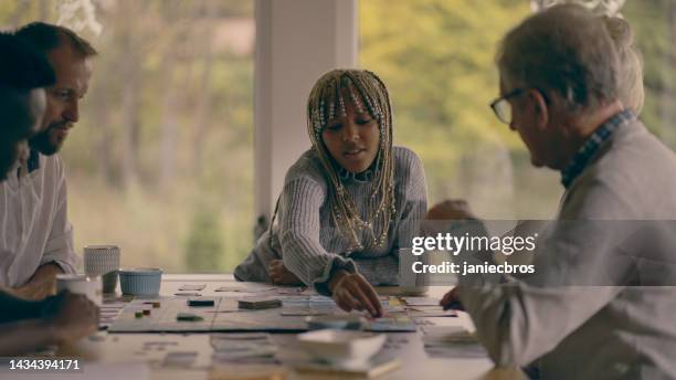
[[[337,271],[329,281],[329,289],[341,309],[368,310],[372,317],[382,316],[382,305],[376,289],[359,273]]]

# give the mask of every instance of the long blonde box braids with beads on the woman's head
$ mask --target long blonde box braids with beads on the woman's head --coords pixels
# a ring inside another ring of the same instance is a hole
[[[371,180],[370,199],[366,218],[361,218],[357,203],[346,191],[337,170],[339,165],[331,158],[321,139],[321,131],[336,116],[346,116],[341,94],[359,113],[368,113],[380,128],[380,145]],[[365,70],[334,70],[324,74],[313,87],[307,102],[307,131],[313,147],[329,178],[329,204],[331,218],[339,231],[351,242],[349,252],[363,250],[359,232],[366,230],[373,246],[387,244],[392,215],[395,213],[392,162],[392,107],[384,83],[372,72]],[[380,229],[380,234],[376,231]],[[348,252],[348,253],[349,253]]]

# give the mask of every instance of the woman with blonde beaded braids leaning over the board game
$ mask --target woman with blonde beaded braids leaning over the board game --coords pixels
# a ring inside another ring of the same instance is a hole
[[[372,72],[334,70],[307,104],[313,148],[286,173],[270,231],[235,268],[240,281],[304,283],[342,309],[382,309],[372,285],[399,283],[399,240],[426,212],[420,158],[392,147],[387,87]]]

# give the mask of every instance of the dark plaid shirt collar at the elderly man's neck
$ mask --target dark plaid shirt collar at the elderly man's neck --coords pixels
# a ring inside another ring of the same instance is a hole
[[[596,154],[601,145],[605,142],[615,130],[633,123],[636,115],[631,109],[624,109],[608,122],[603,123],[594,133],[582,144],[582,147],[573,156],[570,165],[561,171],[561,183],[568,189],[570,184],[582,173],[592,157]]]

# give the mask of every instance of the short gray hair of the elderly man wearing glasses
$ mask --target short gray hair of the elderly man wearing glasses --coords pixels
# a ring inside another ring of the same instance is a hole
[[[504,38],[496,61],[504,84],[557,94],[571,112],[617,98],[613,42],[580,6],[556,6],[526,19]]]

